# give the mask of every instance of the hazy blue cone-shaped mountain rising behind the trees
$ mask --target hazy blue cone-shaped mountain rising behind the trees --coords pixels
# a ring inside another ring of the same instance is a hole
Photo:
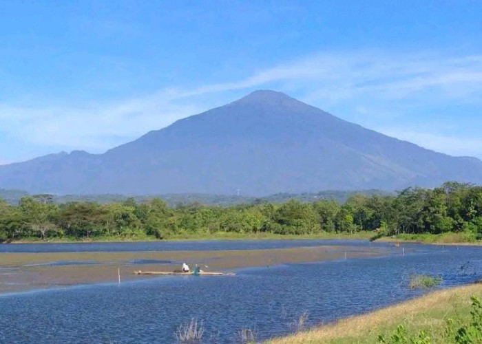
[[[482,162],[423,149],[285,94],[256,91],[103,154],[73,151],[0,166],[30,193],[269,195],[482,182]]]

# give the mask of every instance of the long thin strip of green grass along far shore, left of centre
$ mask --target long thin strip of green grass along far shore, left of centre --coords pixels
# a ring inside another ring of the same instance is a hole
[[[136,242],[136,241],[188,241],[188,240],[274,240],[274,239],[340,239],[340,240],[368,240],[373,237],[371,232],[356,233],[316,233],[305,235],[280,235],[273,233],[232,233],[232,232],[216,232],[216,233],[185,233],[178,235],[169,235],[165,239],[157,239],[153,235],[139,236],[102,236],[92,238],[49,238],[43,240],[38,237],[25,238],[12,241],[12,244],[32,244],[32,243],[74,243],[74,242]]]

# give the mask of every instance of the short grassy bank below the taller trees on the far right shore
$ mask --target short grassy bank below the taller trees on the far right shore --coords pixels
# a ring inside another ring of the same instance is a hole
[[[477,240],[473,233],[443,233],[443,234],[399,234],[390,237],[381,237],[376,241],[381,242],[415,242],[421,244],[440,245],[482,245],[482,240]]]

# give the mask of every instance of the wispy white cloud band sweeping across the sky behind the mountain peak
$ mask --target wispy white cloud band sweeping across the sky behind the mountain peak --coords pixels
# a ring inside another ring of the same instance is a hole
[[[98,152],[221,105],[220,99],[231,98],[233,92],[258,88],[280,89],[315,105],[343,106],[353,114],[364,107],[403,114],[405,108],[417,104],[423,116],[423,107],[432,105],[482,103],[480,71],[482,55],[320,53],[260,70],[242,80],[193,88],[180,85],[110,104],[52,108],[3,104],[0,127],[31,144]],[[212,100],[213,96],[217,100]],[[365,111],[364,116],[379,115]],[[410,129],[387,129],[386,133],[437,151],[482,156],[482,151],[472,148],[482,147],[482,142],[473,138]]]

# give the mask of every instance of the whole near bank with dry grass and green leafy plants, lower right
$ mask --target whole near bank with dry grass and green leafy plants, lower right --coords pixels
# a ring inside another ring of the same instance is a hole
[[[269,343],[481,343],[481,284],[423,297]]]

